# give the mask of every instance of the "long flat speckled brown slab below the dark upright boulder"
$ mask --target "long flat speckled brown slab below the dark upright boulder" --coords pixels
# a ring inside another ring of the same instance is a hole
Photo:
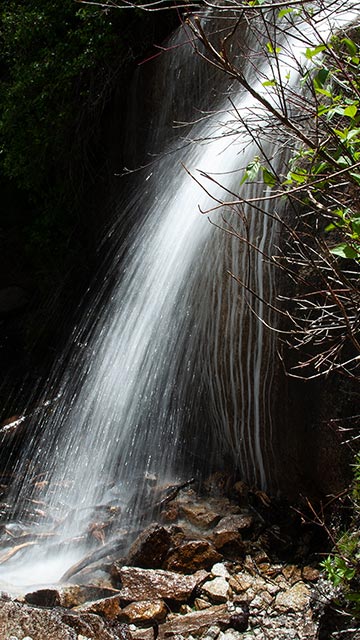
[[[119,572],[122,584],[120,597],[128,602],[159,598],[186,602],[195,587],[202,584],[207,577],[206,571],[181,575],[162,569],[122,567]]]

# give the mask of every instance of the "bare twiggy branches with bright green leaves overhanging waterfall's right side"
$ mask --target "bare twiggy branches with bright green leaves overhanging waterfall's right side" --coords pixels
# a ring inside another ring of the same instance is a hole
[[[321,26],[319,15],[329,11],[322,0],[271,7],[239,1],[235,6],[234,21],[224,22],[215,35],[197,17],[188,19],[201,43],[199,55],[237,81],[257,104],[256,119],[251,110],[235,113],[259,150],[245,167],[241,184],[262,181],[264,195],[253,202],[242,198],[239,190],[231,208],[237,205],[241,219],[244,207],[253,207],[277,220],[286,237],[279,255],[264,257],[295,283],[293,295],[277,306],[278,317],[286,318],[284,341],[298,350],[291,374],[308,378],[339,370],[356,377],[360,49],[358,28],[351,20],[346,27],[351,2],[332,3],[331,11],[344,18],[345,26],[337,31],[331,16],[323,19],[326,28]],[[245,24],[251,34],[248,49],[240,41]],[[259,63],[264,59],[267,65]],[[278,151],[269,156],[266,145],[271,140]],[[279,154],[281,167],[287,155],[285,174],[279,170]],[[297,212],[291,224],[277,215],[284,198]],[[239,238],[243,235],[240,232]],[[263,302],[274,306],[273,301]]]

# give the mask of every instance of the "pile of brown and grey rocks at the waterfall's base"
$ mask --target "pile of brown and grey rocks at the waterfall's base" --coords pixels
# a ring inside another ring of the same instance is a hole
[[[101,539],[65,584],[2,593],[1,640],[360,640],[331,615],[313,528],[242,482],[210,484],[165,501],[125,554]]]

